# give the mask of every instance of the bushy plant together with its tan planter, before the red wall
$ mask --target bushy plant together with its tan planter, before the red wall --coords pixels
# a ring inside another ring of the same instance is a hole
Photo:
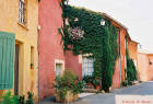
[[[82,86],[81,81],[76,81],[76,76],[71,70],[66,70],[62,76],[56,78],[56,101],[71,103],[78,100]]]

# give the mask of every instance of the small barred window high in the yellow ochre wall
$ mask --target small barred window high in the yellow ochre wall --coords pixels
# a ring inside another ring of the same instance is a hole
[[[26,14],[25,0],[20,0],[20,2],[19,2],[19,22],[24,25],[26,23],[25,14]]]

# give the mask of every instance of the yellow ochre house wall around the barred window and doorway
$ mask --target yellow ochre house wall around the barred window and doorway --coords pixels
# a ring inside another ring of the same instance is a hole
[[[34,92],[38,99],[38,0],[27,0],[27,25],[19,23],[19,0],[0,0],[0,31],[14,33],[20,45],[19,94]],[[34,47],[34,69],[31,69],[31,47]],[[34,83],[32,85],[32,83]],[[33,86],[33,88],[32,88]],[[32,91],[33,90],[33,91]],[[5,91],[0,90],[0,95]],[[13,89],[12,89],[13,92]]]

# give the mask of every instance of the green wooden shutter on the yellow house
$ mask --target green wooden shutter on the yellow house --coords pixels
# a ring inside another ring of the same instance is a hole
[[[13,88],[14,34],[0,32],[0,90]]]

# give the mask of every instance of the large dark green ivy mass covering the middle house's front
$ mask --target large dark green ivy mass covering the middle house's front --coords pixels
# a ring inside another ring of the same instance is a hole
[[[101,80],[102,90],[109,92],[115,61],[118,57],[118,28],[98,12],[71,5],[64,5],[62,9],[63,22],[69,21],[69,25],[63,24],[63,27],[59,30],[63,49],[72,50],[74,55],[92,54],[95,60],[94,77]],[[102,19],[106,22],[104,26],[101,25]],[[76,26],[84,31],[84,35],[83,38],[75,41],[70,38],[68,28]]]

